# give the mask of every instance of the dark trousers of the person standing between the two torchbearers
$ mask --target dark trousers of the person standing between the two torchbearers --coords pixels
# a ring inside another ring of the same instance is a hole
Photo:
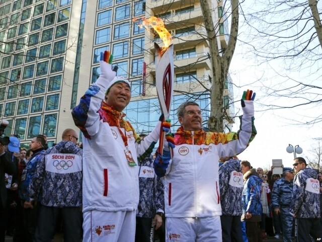
[[[154,229],[152,228],[152,218],[136,217],[135,241],[152,242]]]

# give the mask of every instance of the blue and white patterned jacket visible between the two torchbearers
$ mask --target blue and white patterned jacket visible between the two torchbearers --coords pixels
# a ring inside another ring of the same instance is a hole
[[[165,178],[155,175],[152,156],[139,161],[139,189],[136,217],[153,218],[156,212],[165,212]]]

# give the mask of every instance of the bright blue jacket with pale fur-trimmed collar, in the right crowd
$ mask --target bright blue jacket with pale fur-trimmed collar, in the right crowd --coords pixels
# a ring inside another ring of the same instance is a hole
[[[263,180],[257,175],[256,169],[253,168],[244,174],[243,189],[243,213],[251,213],[252,215],[262,215],[261,204],[261,187]]]

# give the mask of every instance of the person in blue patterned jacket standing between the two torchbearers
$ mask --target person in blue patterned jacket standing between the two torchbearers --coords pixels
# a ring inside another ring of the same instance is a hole
[[[142,137],[143,135],[140,135]],[[165,212],[165,178],[156,176],[153,156],[139,161],[139,204],[136,211],[135,241],[152,242],[154,229],[162,225]]]

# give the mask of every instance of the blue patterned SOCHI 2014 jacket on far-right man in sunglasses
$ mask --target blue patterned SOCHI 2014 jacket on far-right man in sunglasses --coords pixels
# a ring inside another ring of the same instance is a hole
[[[319,182],[311,168],[300,170],[294,176],[290,213],[297,218],[319,218]]]

